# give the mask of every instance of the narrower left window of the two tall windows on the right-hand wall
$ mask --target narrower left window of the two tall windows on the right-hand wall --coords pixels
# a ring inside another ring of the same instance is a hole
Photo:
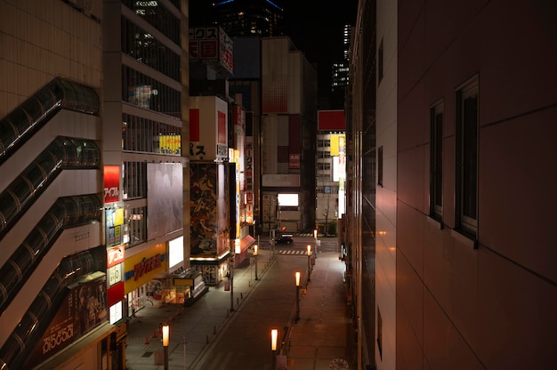
[[[430,215],[443,218],[443,101],[430,109]]]

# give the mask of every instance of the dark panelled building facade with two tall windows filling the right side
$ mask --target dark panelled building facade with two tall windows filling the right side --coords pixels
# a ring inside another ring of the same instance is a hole
[[[555,10],[359,2],[347,133],[359,368],[557,366]]]

